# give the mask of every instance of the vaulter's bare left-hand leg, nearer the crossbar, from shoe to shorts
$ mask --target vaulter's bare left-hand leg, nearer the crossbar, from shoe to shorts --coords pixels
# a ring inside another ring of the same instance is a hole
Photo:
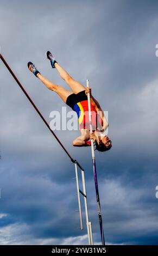
[[[52,83],[47,78],[43,77],[40,73],[37,74],[37,77],[40,79],[40,81],[43,82],[43,84],[45,84],[45,86],[49,90],[53,90],[55,93],[57,93],[61,97],[61,99],[66,103],[67,97],[71,95],[72,92],[68,92],[68,90],[66,90],[65,88],[58,86],[55,83]]]

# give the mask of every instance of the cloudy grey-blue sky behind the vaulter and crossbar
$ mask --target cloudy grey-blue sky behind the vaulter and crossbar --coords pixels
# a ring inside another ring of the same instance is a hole
[[[158,3],[155,0],[2,1],[3,57],[50,122],[64,103],[30,74],[68,89],[56,60],[109,111],[113,147],[96,153],[105,241],[158,244]],[[74,166],[0,62],[1,245],[87,244],[79,226]],[[69,109],[69,108],[68,108]],[[100,243],[91,149],[73,148],[78,131],[57,131],[85,168],[94,243]],[[83,204],[84,202],[82,202]]]

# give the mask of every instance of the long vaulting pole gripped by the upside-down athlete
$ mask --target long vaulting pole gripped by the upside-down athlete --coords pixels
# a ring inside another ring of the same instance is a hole
[[[87,87],[89,87],[89,80],[88,79],[87,79]],[[91,98],[90,98],[90,93],[87,94],[87,97],[88,97],[88,103],[89,103],[90,133],[92,133],[92,115],[91,115]],[[97,170],[96,170],[96,160],[95,160],[95,154],[94,154],[93,139],[91,139],[91,149],[92,149],[93,173],[94,173],[94,181],[95,181],[95,187],[96,187],[96,197],[97,197],[100,233],[101,233],[101,237],[102,237],[102,245],[105,245],[103,222],[102,222],[102,214],[101,214],[101,208],[100,208],[100,199],[99,199],[99,190],[98,190],[98,180],[97,180]]]

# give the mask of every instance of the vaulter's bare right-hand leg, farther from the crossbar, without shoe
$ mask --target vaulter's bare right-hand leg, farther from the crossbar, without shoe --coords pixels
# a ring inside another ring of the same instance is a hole
[[[61,78],[65,80],[68,86],[72,89],[73,93],[77,94],[85,90],[85,87],[83,86],[83,84],[74,80],[57,62],[54,64],[54,66],[58,70]]]

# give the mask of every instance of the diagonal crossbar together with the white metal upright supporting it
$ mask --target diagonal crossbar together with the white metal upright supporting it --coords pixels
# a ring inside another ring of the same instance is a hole
[[[89,214],[88,214],[88,207],[87,207],[87,196],[86,196],[86,185],[85,185],[84,169],[80,166],[80,164],[77,162],[77,160],[74,160],[72,158],[72,156],[68,153],[68,151],[66,150],[64,145],[61,143],[60,139],[55,135],[54,131],[52,129],[50,129],[49,124],[47,123],[46,119],[43,117],[43,115],[41,114],[39,109],[36,107],[36,105],[33,102],[33,100],[31,100],[30,96],[28,95],[26,90],[23,88],[22,84],[17,79],[17,77],[15,76],[14,72],[11,70],[10,66],[5,61],[5,59],[3,58],[1,53],[0,53],[0,58],[1,58],[2,62],[4,63],[4,65],[7,67],[7,69],[9,70],[10,74],[12,75],[12,77],[14,77],[14,79],[17,82],[18,86],[20,86],[20,88],[22,89],[23,93],[27,96],[27,98],[30,101],[31,105],[33,105],[33,107],[35,108],[36,112],[40,115],[41,119],[46,124],[46,126],[49,129],[49,131],[52,132],[53,136],[59,142],[59,144],[61,145],[62,149],[64,149],[64,151],[67,154],[67,156],[69,157],[69,159],[74,163],[75,179],[76,179],[76,182],[77,182],[77,195],[78,195],[78,204],[79,204],[80,229],[81,230],[83,229],[83,219],[82,219],[81,203],[80,203],[80,194],[81,194],[84,197],[84,202],[85,202],[85,214],[86,214],[86,224],[87,224],[87,234],[88,234],[88,239],[89,239],[89,245],[93,245],[92,226],[91,226],[91,222],[89,221]],[[81,170],[81,176],[82,176],[82,182],[83,182],[83,192],[79,188],[78,169],[77,169],[77,167],[79,167],[80,170]]]

